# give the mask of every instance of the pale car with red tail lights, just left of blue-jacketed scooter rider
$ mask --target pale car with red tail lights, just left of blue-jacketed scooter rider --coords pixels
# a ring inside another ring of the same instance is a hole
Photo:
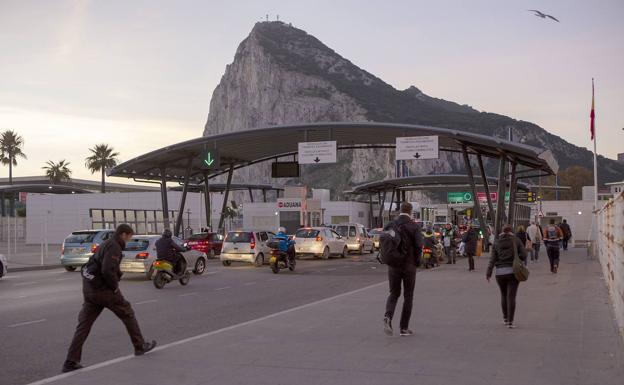
[[[275,233],[270,231],[230,231],[223,240],[219,258],[223,266],[230,266],[235,261],[253,263],[260,267],[269,261],[271,250],[267,242],[274,236]]]

